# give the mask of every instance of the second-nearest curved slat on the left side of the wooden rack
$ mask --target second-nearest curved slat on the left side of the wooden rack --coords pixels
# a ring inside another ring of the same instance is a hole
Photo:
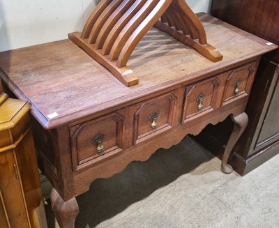
[[[126,40],[130,38],[135,29],[137,29],[137,27],[140,26],[142,20],[144,20],[144,18],[146,18],[149,15],[149,13],[153,10],[153,8],[156,6],[158,2],[159,0],[146,1],[144,6],[142,6],[142,8],[140,8],[140,10],[130,20],[130,22],[126,24],[121,33],[119,33],[119,36],[116,38],[114,45],[112,46],[112,50],[110,51],[109,56],[109,59],[111,61],[119,59],[119,54],[121,50],[123,50],[123,47],[126,44]]]

